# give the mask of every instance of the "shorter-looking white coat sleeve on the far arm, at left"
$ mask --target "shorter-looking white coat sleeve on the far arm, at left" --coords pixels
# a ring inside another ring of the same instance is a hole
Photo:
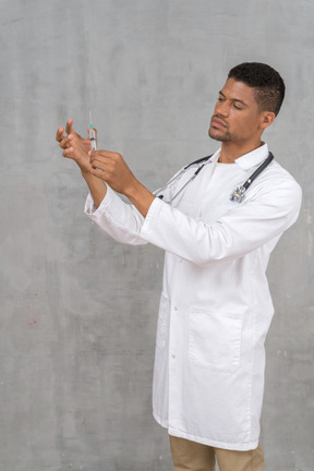
[[[108,185],[98,208],[95,207],[90,193],[88,194],[85,214],[118,242],[132,245],[147,243],[140,237],[144,217],[134,206],[124,203]]]

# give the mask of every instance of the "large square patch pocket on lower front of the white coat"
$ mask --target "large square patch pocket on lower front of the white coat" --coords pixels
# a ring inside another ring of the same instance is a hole
[[[240,365],[242,315],[191,309],[190,360],[201,366],[234,373]]]

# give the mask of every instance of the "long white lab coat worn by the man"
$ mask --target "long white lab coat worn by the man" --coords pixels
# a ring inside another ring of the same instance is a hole
[[[229,195],[267,157],[267,144],[235,164],[218,150],[171,205],[155,198],[146,218],[108,188],[86,214],[122,243],[166,251],[154,367],[153,410],[170,435],[218,448],[257,447],[264,341],[274,309],[269,254],[299,214],[301,189],[275,160],[244,201]],[[167,201],[194,173],[165,192]]]

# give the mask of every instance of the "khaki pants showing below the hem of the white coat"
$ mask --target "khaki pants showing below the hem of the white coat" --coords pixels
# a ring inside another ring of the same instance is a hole
[[[185,438],[169,436],[176,471],[263,471],[264,454],[261,445],[250,451],[213,448]]]

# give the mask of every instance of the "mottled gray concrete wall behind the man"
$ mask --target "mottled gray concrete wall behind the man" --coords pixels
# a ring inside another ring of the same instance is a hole
[[[216,149],[217,92],[246,60],[286,78],[266,138],[304,190],[268,269],[265,470],[313,471],[313,21],[310,0],[0,0],[1,471],[171,469],[150,413],[162,253],[87,220],[55,133],[92,109],[99,146],[157,188]]]

